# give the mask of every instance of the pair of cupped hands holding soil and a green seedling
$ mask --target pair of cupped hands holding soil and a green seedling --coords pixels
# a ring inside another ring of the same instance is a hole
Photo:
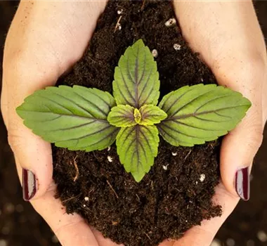
[[[64,246],[112,246],[77,214],[66,214],[54,198],[51,145],[32,134],[15,108],[37,89],[53,86],[74,65],[92,37],[106,1],[22,1],[4,48],[1,111],[15,154],[25,200],[43,216]],[[252,1],[174,1],[183,36],[201,53],[217,81],[240,91],[252,108],[223,138],[221,183],[214,202],[221,217],[203,221],[177,241],[160,246],[209,245],[239,196],[249,198],[249,171],[262,141],[267,117],[267,58]],[[22,175],[23,174],[23,175]],[[34,186],[36,185],[36,186]],[[239,196],[238,196],[239,195]]]

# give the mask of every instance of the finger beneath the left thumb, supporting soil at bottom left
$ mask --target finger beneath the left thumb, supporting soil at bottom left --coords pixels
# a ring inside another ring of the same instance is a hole
[[[17,158],[15,163],[22,182],[22,168]],[[63,246],[104,246],[98,245],[88,224],[77,214],[67,214],[60,200],[55,196],[56,185],[48,188],[45,195],[32,201],[34,209],[45,219]]]

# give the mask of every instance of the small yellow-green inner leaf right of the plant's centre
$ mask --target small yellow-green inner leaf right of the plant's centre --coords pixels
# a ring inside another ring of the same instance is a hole
[[[154,105],[143,105],[140,109],[141,122],[143,125],[158,124],[163,119],[167,118],[167,113]]]

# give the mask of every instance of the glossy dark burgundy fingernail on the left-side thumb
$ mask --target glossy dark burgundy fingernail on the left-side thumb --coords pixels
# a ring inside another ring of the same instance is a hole
[[[22,169],[22,190],[25,201],[30,201],[37,192],[36,177],[32,171],[27,169]]]

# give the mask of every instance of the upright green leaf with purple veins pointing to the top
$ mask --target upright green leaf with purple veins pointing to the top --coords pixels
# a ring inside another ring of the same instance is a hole
[[[113,95],[117,104],[141,108],[145,104],[157,105],[159,99],[159,73],[149,48],[142,39],[126,49],[115,68]]]

